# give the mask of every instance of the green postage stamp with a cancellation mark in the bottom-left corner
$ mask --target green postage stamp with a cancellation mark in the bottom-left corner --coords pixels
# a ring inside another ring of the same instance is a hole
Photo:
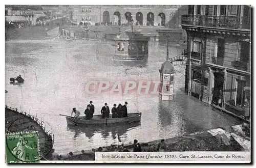
[[[39,159],[37,132],[6,134],[7,163],[38,163]]]

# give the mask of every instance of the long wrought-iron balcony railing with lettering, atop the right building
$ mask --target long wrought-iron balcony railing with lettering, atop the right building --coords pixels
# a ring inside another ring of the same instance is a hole
[[[226,27],[229,29],[251,29],[250,18],[239,16],[182,15],[181,23],[206,27]]]

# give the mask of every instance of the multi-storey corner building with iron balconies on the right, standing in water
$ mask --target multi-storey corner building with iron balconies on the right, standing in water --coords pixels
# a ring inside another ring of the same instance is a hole
[[[182,29],[189,57],[185,91],[243,116],[251,95],[251,7],[191,5]]]

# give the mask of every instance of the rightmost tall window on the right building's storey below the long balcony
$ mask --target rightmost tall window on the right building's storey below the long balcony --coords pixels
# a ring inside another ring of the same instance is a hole
[[[238,42],[238,61],[246,62],[249,61],[250,43],[246,41]]]

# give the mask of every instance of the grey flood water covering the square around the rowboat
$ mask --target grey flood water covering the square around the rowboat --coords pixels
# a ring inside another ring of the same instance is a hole
[[[96,48],[99,54],[96,55]],[[89,81],[159,80],[159,69],[166,58],[166,47],[151,41],[145,67],[112,65],[114,47],[108,42],[58,39],[6,42],[6,105],[44,118],[54,133],[55,151],[63,154],[117,143],[149,142],[160,138],[228,127],[236,119],[212,110],[210,106],[184,93],[185,67],[175,66],[175,93],[172,101],[159,101],[158,94],[109,94],[86,92]],[[180,55],[179,47],[169,48],[169,57]],[[11,85],[10,77],[22,75],[25,83]],[[83,111],[89,101],[95,115],[107,102],[128,102],[128,113],[142,113],[140,123],[114,126],[67,126],[73,107]]]

